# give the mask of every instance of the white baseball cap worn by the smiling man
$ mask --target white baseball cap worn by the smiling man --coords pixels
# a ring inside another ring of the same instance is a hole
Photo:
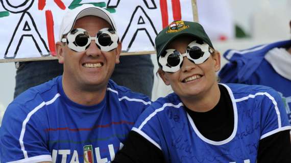
[[[75,22],[78,19],[84,16],[88,16],[88,15],[93,15],[93,16],[98,16],[98,17],[103,18],[112,26],[113,30],[117,32],[115,22],[110,12],[108,12],[107,10],[103,8],[93,6],[91,4],[84,4],[73,10],[67,11],[67,13],[64,15],[62,23],[61,23],[61,27],[60,27],[59,41],[61,41],[63,35],[68,34],[72,30]]]

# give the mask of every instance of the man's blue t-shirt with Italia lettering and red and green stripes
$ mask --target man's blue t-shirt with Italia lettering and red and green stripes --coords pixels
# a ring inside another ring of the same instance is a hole
[[[0,133],[1,162],[108,162],[151,103],[109,80],[96,105],[71,101],[62,76],[33,87],[9,104]]]

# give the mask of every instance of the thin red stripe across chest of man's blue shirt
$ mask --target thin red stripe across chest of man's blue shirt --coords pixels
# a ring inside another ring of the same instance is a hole
[[[92,130],[92,129],[95,129],[95,128],[106,128],[106,127],[110,127],[112,124],[131,124],[131,125],[133,125],[134,122],[128,122],[128,121],[111,122],[111,123],[106,124],[106,125],[96,125],[96,126],[93,126],[91,128],[68,128],[68,127],[47,128],[47,129],[44,129],[44,131],[57,131],[57,130],[89,131],[89,130]]]

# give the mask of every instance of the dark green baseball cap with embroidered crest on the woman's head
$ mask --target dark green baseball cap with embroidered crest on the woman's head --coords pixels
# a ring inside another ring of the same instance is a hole
[[[166,28],[164,28],[155,39],[158,61],[167,45],[179,36],[193,36],[204,41],[214,49],[201,24],[183,20],[173,21],[166,26]]]

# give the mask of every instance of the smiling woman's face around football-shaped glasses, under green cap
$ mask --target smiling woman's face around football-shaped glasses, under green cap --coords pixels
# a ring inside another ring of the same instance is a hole
[[[181,37],[173,40],[166,49],[176,49],[185,53],[187,45],[195,41],[194,38]],[[159,70],[159,75],[166,85],[171,85],[180,98],[207,95],[217,85],[215,72],[220,69],[220,53],[215,51],[202,64],[195,64],[183,57],[183,64],[179,71],[171,73]]]

